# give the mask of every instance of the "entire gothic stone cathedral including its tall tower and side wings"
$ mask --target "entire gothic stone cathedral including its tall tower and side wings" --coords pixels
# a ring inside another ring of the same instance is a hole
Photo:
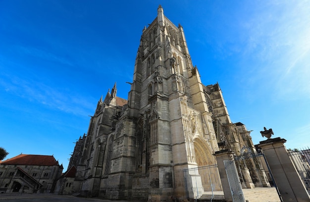
[[[183,27],[166,18],[161,6],[143,29],[130,85],[128,100],[116,96],[114,84],[98,101],[70,159],[69,168],[76,168],[72,193],[184,200],[184,169],[216,164],[212,154],[219,145],[236,155],[243,147],[255,150],[245,126],[231,122],[219,84],[202,83]],[[246,167],[240,171],[244,186],[264,186],[252,181]]]

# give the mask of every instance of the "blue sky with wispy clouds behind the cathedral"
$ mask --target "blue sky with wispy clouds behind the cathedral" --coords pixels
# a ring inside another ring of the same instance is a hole
[[[231,120],[254,144],[272,128],[310,146],[309,0],[2,0],[0,147],[54,155],[64,170],[114,82],[127,99],[144,26],[164,14],[185,32],[205,85],[219,83]]]

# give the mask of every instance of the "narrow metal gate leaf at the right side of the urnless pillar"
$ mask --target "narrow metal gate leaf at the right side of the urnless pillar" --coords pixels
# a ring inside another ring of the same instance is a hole
[[[237,168],[233,160],[224,160],[224,166],[233,202],[245,202]]]

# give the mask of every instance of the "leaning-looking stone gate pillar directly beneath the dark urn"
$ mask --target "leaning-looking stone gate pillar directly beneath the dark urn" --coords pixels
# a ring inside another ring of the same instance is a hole
[[[274,181],[284,202],[309,202],[310,196],[284,146],[285,139],[260,141]]]

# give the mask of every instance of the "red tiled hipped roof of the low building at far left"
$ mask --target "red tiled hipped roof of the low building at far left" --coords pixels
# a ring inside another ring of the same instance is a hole
[[[9,165],[59,165],[52,155],[19,154],[1,162]]]

